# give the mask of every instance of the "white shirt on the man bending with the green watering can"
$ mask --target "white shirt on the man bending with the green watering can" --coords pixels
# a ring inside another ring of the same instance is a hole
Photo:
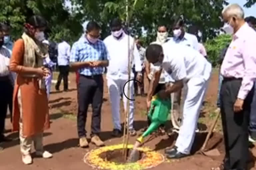
[[[163,44],[162,68],[177,81],[187,82],[192,77],[208,80],[212,66],[199,51],[180,44]],[[158,70],[161,67],[158,67]]]

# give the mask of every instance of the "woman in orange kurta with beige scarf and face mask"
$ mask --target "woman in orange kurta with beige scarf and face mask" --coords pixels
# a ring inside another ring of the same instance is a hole
[[[20,148],[24,164],[31,164],[31,145],[37,156],[52,157],[43,150],[43,130],[50,127],[48,100],[43,78],[49,70],[43,67],[47,56],[41,41],[46,21],[33,16],[25,24],[22,38],[14,43],[10,70],[17,73],[13,95],[13,131],[20,131]]]

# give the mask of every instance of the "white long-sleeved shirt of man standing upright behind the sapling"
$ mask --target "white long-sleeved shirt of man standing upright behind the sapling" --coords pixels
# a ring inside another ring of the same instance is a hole
[[[142,71],[142,63],[140,53],[134,43],[134,39],[130,37],[130,62],[131,67],[135,64],[135,71]],[[123,36],[118,40],[112,35],[108,36],[103,41],[109,52],[109,65],[107,67],[107,77],[112,79],[128,79],[128,35],[123,33]],[[131,69],[131,79],[134,74]]]

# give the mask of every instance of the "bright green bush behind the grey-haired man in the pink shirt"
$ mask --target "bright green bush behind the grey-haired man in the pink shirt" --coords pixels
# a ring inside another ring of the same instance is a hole
[[[231,42],[230,35],[219,35],[218,37],[207,40],[205,43],[205,48],[207,50],[208,60],[212,63],[212,66],[218,66],[218,59],[220,52]]]

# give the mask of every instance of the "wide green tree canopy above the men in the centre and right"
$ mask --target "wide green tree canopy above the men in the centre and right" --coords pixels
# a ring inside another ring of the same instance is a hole
[[[81,12],[85,20],[95,20],[102,26],[102,38],[109,33],[109,22],[114,17],[124,18],[124,0],[71,0],[75,11]],[[130,8],[134,0],[129,0]],[[133,35],[147,31],[146,43],[155,40],[156,28],[164,23],[171,28],[178,16],[183,16],[187,25],[197,25],[203,33],[203,40],[214,38],[222,26],[220,19],[226,0],[139,0],[133,11],[130,29]]]

